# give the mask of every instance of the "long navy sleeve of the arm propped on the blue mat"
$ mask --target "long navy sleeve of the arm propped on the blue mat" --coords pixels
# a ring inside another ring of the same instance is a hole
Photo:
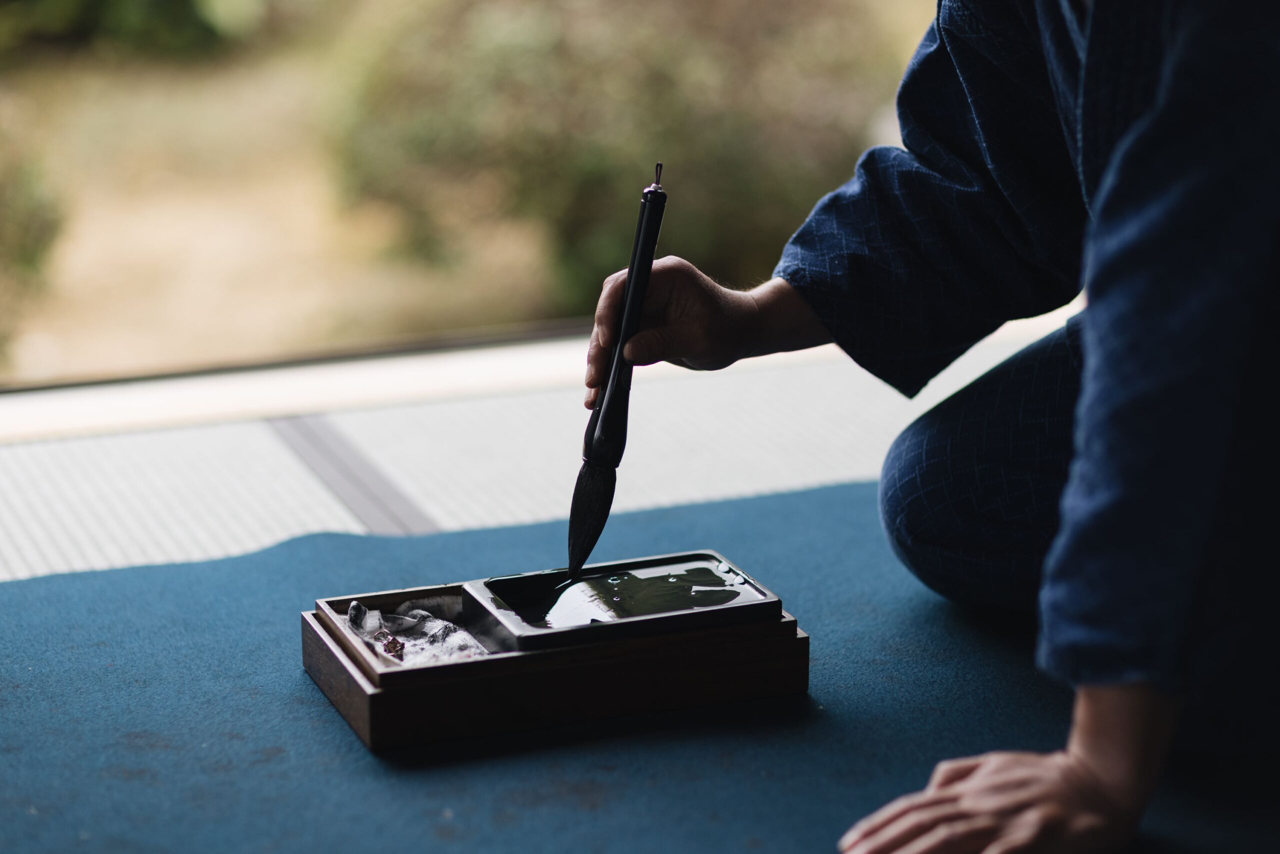
[[[1119,137],[1094,197],[1075,455],[1038,650],[1042,668],[1074,684],[1171,693],[1188,689],[1206,640],[1193,612],[1215,589],[1215,525],[1229,498],[1239,506],[1233,444],[1253,429],[1242,414],[1257,417],[1251,398],[1265,389],[1247,378],[1274,353],[1280,287],[1276,4],[1180,8],[1165,32],[1146,32],[1165,40],[1155,99]],[[1231,586],[1236,599],[1258,595]]]

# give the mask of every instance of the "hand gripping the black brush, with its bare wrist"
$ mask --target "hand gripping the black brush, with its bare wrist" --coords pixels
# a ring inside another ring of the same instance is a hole
[[[588,408],[609,373],[617,314],[627,271],[604,280],[586,350]],[[831,341],[822,321],[783,279],[733,291],[684,259],[653,262],[644,318],[622,355],[635,365],[668,361],[691,370],[719,370],[740,359],[801,350]]]

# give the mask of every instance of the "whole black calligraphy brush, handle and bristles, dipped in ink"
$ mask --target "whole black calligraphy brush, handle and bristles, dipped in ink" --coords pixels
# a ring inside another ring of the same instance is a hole
[[[614,318],[613,352],[609,375],[595,397],[591,420],[582,439],[582,467],[573,487],[573,503],[568,511],[568,577],[576,579],[590,557],[613,507],[613,488],[618,480],[618,463],[627,444],[627,407],[631,401],[631,362],[622,357],[622,347],[640,328],[653,254],[658,247],[658,230],[667,207],[662,188],[662,164],[654,170],[653,184],[640,196],[640,222],[636,224],[631,264],[627,266],[622,311]]]

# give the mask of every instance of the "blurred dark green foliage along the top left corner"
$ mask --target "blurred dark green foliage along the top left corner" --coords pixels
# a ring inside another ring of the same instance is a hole
[[[41,42],[187,54],[247,38],[307,0],[0,0],[0,55]]]

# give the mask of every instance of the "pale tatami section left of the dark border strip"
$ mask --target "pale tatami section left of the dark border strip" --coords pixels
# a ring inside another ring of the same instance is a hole
[[[0,580],[364,526],[262,423],[0,448]]]

